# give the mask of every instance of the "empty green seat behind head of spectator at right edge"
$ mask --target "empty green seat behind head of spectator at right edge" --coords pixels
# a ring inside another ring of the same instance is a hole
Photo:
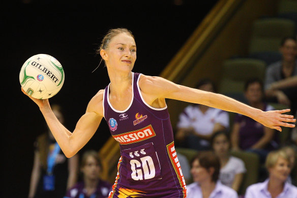
[[[253,22],[249,54],[262,51],[277,52],[282,38],[293,36],[295,23],[290,19],[270,17]]]

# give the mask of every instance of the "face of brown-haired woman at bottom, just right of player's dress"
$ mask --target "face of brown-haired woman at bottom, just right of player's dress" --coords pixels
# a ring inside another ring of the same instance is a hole
[[[211,172],[202,167],[198,159],[192,163],[191,174],[194,182],[203,183],[204,181],[212,180]]]

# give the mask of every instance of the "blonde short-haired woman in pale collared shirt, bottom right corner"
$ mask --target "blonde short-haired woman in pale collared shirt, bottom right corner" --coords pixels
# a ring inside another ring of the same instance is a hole
[[[290,159],[284,151],[278,150],[269,153],[265,167],[269,172],[269,178],[264,182],[249,186],[246,190],[245,198],[297,197],[297,187],[286,182],[290,175],[291,167]]]

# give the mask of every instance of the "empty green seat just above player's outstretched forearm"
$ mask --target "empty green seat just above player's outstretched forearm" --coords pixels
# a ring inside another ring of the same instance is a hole
[[[263,80],[266,64],[256,59],[229,59],[223,63],[223,71],[218,92],[234,99],[244,101],[245,81],[251,77]],[[237,97],[237,98],[236,98]]]

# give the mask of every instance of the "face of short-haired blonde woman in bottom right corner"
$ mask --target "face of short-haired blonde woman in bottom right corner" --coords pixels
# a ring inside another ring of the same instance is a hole
[[[283,182],[287,180],[290,172],[290,163],[282,157],[279,157],[276,164],[269,168],[270,179],[277,179]]]

